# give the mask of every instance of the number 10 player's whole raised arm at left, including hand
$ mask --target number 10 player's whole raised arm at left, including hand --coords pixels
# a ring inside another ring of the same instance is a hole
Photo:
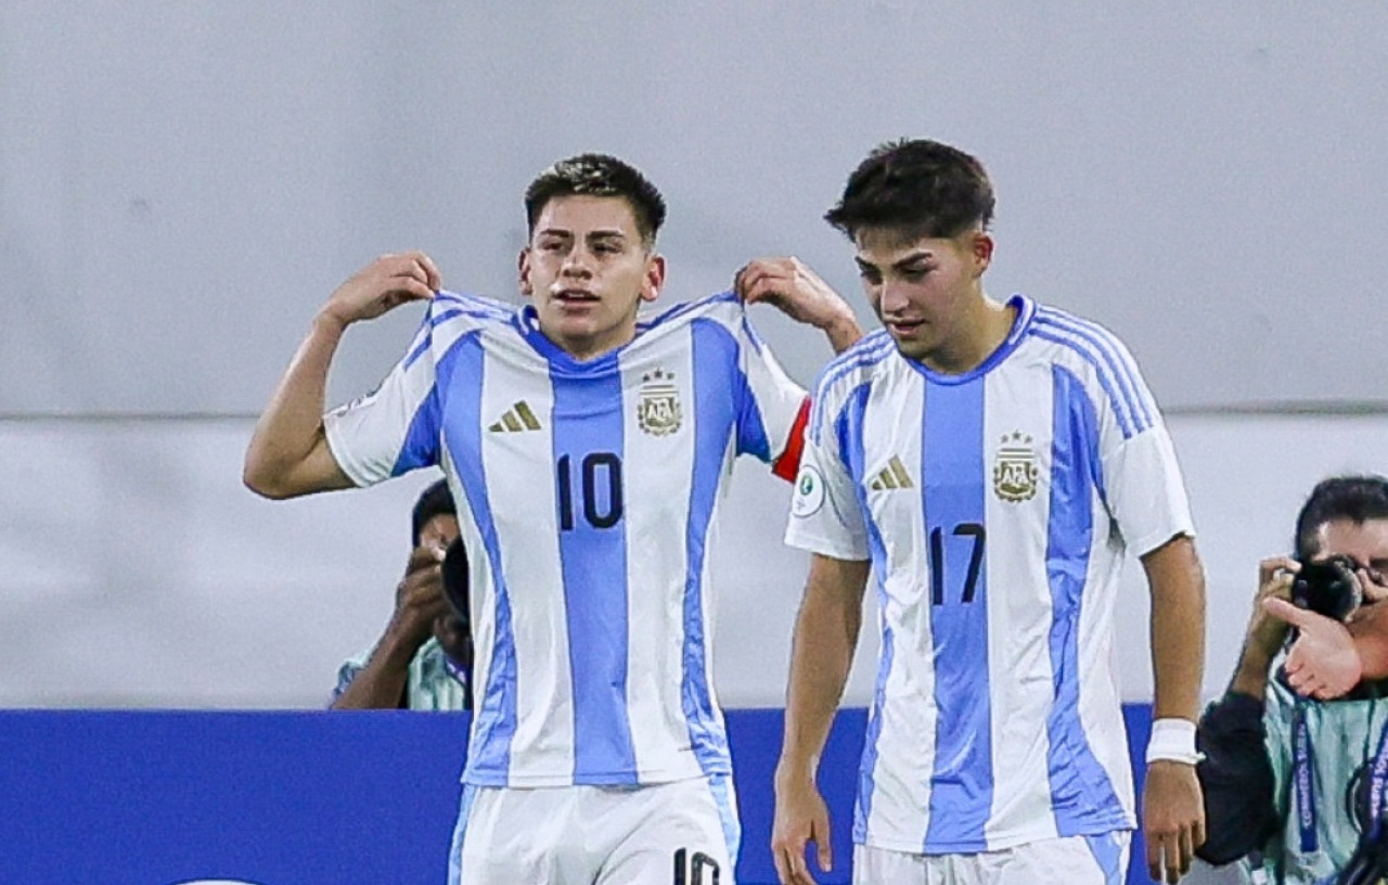
[[[347,326],[433,297],[439,270],[423,252],[382,255],[347,279],[314,318],[285,377],[255,423],[242,480],[266,498],[348,488],[323,434],[328,368]]]

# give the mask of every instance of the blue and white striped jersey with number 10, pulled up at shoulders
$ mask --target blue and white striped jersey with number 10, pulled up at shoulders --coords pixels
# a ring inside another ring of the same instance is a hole
[[[804,404],[731,293],[586,362],[533,308],[441,293],[380,388],[325,416],[358,486],[448,477],[476,648],[465,782],[730,771],[708,552],[733,458],[798,455]]]

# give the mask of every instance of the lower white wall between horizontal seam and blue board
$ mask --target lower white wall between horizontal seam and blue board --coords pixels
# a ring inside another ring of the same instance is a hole
[[[1388,418],[1174,416],[1209,577],[1206,694],[1228,680],[1256,563],[1291,545],[1310,486],[1388,470]],[[316,706],[375,639],[429,480],[268,502],[240,487],[250,423],[0,422],[0,706]],[[781,701],[805,560],[780,542],[788,487],[734,477],[716,556],[718,684]],[[1151,698],[1146,594],[1120,608],[1124,695]],[[869,594],[870,596],[870,594]],[[849,699],[872,687],[863,631]]]

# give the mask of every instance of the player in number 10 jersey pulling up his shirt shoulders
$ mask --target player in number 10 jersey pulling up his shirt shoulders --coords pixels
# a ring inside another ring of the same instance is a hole
[[[829,287],[762,268],[733,293],[638,320],[665,203],[586,154],[525,197],[519,311],[440,290],[386,255],[323,305],[251,440],[268,497],[439,465],[469,551],[476,714],[450,881],[730,881],[740,828],[712,685],[708,549],[731,461],[793,479],[805,393],[747,322],[772,301],[858,337]],[[343,330],[429,309],[379,390],[323,415]]]

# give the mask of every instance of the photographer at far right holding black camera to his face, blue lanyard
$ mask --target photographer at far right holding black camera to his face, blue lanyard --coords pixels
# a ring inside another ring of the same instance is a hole
[[[1259,565],[1259,591],[1224,698],[1198,728],[1208,838],[1252,882],[1366,885],[1388,875],[1388,684],[1301,698],[1274,670],[1294,627],[1270,599],[1346,620],[1388,596],[1388,480],[1321,481],[1296,519],[1296,558]]]

